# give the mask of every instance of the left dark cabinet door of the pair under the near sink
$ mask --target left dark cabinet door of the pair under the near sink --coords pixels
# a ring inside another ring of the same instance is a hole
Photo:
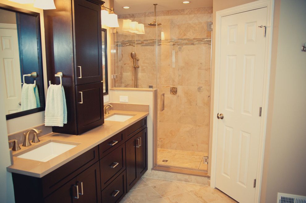
[[[76,203],[77,199],[76,179],[70,180],[62,187],[58,188],[54,193],[44,199],[45,203]]]

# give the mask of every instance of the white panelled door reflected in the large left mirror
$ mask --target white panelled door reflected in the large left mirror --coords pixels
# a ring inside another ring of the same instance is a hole
[[[6,114],[21,110],[21,77],[17,29],[0,28],[0,84],[5,96]]]

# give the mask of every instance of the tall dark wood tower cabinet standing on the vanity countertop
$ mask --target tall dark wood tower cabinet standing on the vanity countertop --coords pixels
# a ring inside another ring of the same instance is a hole
[[[100,0],[54,0],[57,9],[44,11],[48,80],[59,84],[54,74],[63,73],[62,85],[67,104],[67,124],[54,126],[53,132],[79,135],[104,123],[103,3]],[[92,87],[92,84],[96,85]],[[83,100],[87,100],[83,105],[79,103],[82,102],[81,92]]]

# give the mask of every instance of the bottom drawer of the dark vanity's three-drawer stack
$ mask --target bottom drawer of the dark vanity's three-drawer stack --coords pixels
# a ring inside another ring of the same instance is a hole
[[[125,171],[122,172],[102,192],[102,203],[117,203],[126,194]]]

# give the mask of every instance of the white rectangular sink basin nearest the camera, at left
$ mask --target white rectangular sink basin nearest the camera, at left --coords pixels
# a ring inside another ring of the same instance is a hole
[[[47,162],[50,159],[53,159],[54,157],[76,147],[77,144],[79,143],[65,144],[51,141],[47,144],[42,144],[41,146],[38,145],[35,149],[28,151],[22,155],[17,155],[17,157]]]

